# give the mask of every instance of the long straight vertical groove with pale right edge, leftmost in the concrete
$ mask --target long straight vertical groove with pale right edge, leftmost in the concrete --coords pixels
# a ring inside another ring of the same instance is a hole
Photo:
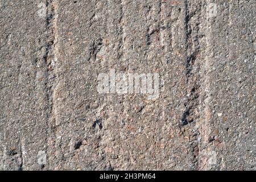
[[[47,159],[51,159],[49,156],[51,153],[51,149],[48,146],[51,146],[51,140],[55,133],[55,102],[56,102],[56,90],[58,89],[58,80],[56,75],[56,69],[58,69],[59,60],[58,60],[58,39],[59,39],[59,32],[57,27],[58,21],[58,1],[46,1],[47,6],[47,16],[46,16],[46,26],[48,32],[47,38],[47,48],[46,48],[46,55],[45,61],[47,64],[47,141],[46,141],[46,152],[48,155]],[[48,169],[51,166],[51,160],[47,160]]]

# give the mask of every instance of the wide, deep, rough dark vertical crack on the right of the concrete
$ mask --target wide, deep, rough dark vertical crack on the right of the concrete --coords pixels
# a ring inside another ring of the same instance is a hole
[[[195,12],[190,12],[190,6],[196,6]],[[197,114],[199,107],[199,97],[200,97],[200,63],[196,63],[198,55],[200,55],[199,45],[199,24],[193,23],[192,17],[198,15],[197,22],[200,22],[200,12],[201,4],[195,5],[189,2],[188,0],[184,3],[185,9],[185,50],[187,51],[187,56],[185,57],[185,84],[187,85],[187,100],[184,103],[185,111],[181,117],[181,122],[184,125],[195,122],[196,119],[200,118]],[[191,26],[194,26],[193,29]],[[192,31],[193,30],[193,31]],[[200,134],[198,129],[195,126],[192,126],[193,139],[191,143],[191,152],[192,152],[192,164],[191,168],[193,170],[198,169],[198,155],[199,155],[199,143],[197,141],[198,135]]]

